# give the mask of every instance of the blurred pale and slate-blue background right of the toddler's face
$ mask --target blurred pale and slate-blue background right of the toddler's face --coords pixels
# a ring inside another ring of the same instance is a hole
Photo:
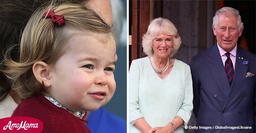
[[[113,32],[117,37],[117,56],[114,75],[117,84],[113,98],[103,106],[109,112],[116,114],[126,120],[126,67],[127,67],[127,45],[126,45],[126,0],[110,0],[113,13]]]

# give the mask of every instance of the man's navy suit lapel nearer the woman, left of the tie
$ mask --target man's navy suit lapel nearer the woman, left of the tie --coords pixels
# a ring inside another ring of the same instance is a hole
[[[226,71],[219,54],[217,44],[211,48],[208,56],[204,56],[204,59],[206,60],[211,74],[216,84],[219,86],[219,89],[227,97],[230,90],[230,85],[228,83],[228,78],[226,76]]]

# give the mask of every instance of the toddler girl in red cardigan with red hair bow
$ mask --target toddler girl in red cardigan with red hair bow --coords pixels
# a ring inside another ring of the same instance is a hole
[[[115,92],[115,52],[111,27],[94,11],[76,4],[39,8],[22,34],[19,62],[10,53],[4,61],[2,71],[24,99],[12,116],[41,120],[42,132],[90,132],[86,111]]]

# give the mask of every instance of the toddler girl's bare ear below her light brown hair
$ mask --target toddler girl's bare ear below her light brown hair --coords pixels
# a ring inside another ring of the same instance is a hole
[[[45,87],[50,87],[50,67],[43,61],[37,61],[33,65],[33,74],[40,83],[44,83]]]

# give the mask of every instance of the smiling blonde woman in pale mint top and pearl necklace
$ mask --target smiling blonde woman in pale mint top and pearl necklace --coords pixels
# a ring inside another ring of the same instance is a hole
[[[192,109],[192,79],[186,63],[172,58],[181,39],[172,22],[156,18],[143,36],[148,57],[132,61],[129,72],[130,133],[183,133]]]

